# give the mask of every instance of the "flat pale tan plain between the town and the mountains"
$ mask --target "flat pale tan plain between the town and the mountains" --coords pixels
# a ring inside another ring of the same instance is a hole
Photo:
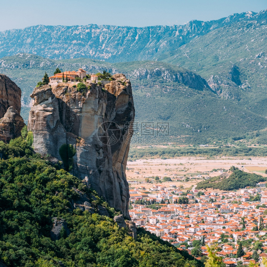
[[[224,170],[229,170],[231,166],[238,167],[245,172],[256,173],[267,177],[262,173],[267,169],[267,158],[265,157],[220,157],[217,159],[206,159],[201,157],[179,157],[174,159],[139,159],[127,162],[126,176],[128,182],[134,186],[136,183],[142,183],[146,189],[151,188],[151,183],[145,183],[145,179],[151,177],[170,177],[172,182],[162,182],[166,186],[175,185],[189,188],[202,180],[202,177],[214,177],[220,175]],[[216,170],[216,171],[215,171]],[[222,171],[221,171],[222,170]],[[185,181],[188,177],[189,180]],[[195,179],[190,179],[195,177]],[[177,180],[178,179],[178,180]],[[162,181],[162,180],[161,180]]]

